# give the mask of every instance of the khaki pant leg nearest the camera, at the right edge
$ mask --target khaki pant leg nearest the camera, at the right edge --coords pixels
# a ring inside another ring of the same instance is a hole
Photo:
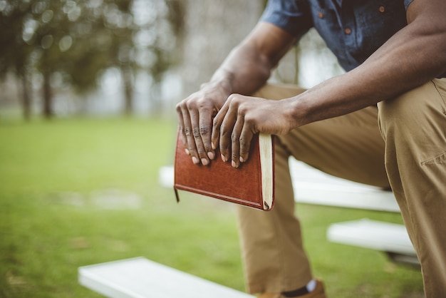
[[[385,167],[427,298],[446,293],[446,79],[378,104]]]

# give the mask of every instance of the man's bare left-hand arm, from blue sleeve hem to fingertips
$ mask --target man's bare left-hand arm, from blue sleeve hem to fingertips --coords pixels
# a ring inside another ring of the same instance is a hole
[[[195,164],[214,158],[211,144],[212,116],[231,93],[251,94],[269,78],[271,68],[291,48],[295,38],[276,26],[259,23],[229,53],[209,83],[177,105],[185,150]]]

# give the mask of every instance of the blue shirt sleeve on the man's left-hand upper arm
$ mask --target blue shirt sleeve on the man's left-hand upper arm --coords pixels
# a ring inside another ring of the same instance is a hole
[[[296,38],[301,38],[313,26],[306,0],[269,0],[260,21],[279,26]]]

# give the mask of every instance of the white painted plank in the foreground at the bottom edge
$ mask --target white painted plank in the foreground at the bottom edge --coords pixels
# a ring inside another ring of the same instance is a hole
[[[144,257],[79,267],[78,279],[111,298],[254,298]]]

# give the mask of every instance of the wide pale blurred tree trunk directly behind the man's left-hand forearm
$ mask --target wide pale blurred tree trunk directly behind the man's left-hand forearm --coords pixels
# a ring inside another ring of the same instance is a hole
[[[229,51],[254,28],[263,9],[263,0],[185,1],[183,97],[209,81]]]

